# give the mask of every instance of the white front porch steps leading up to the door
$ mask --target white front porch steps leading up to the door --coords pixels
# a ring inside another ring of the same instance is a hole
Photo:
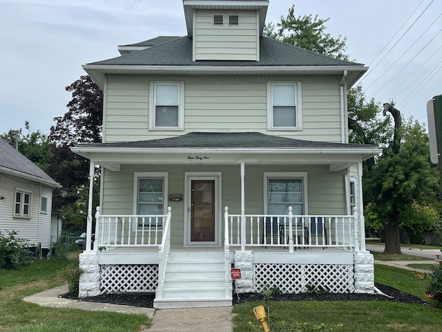
[[[172,252],[162,298],[157,294],[153,305],[160,309],[231,306],[231,295],[225,296],[224,273],[223,253]]]

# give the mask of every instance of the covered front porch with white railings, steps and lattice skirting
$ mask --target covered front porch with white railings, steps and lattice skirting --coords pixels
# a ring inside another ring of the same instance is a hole
[[[377,149],[206,134],[73,148],[90,159],[91,181],[102,167],[80,296],[155,292],[166,308],[229,305],[232,288],[373,292],[360,207],[362,162]]]

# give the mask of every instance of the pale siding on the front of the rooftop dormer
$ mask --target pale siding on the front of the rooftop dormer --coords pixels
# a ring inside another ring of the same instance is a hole
[[[224,24],[214,24],[214,15],[222,15]],[[233,24],[236,16],[238,24]],[[194,60],[258,61],[258,14],[256,11],[222,11],[220,14],[197,10],[193,41]]]

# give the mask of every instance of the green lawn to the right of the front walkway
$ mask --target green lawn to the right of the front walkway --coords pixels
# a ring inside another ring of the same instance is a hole
[[[375,280],[380,284],[425,299],[427,279],[416,273],[390,266],[375,265]],[[233,307],[234,332],[259,331],[258,320],[252,309],[262,302],[240,304]],[[327,326],[343,324],[340,332],[434,332],[441,330],[442,310],[421,304],[392,302],[271,302],[273,322],[325,323]],[[279,332],[273,330],[272,332]],[[310,331],[310,330],[309,330]]]

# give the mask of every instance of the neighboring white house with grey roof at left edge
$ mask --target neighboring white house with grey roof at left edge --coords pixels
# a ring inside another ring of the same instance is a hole
[[[0,138],[0,232],[15,230],[47,253],[55,187],[59,183]]]

